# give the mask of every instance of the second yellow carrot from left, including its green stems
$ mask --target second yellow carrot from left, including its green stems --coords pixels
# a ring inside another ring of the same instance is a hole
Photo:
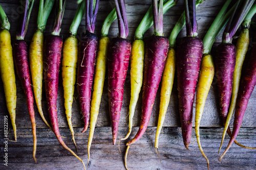
[[[45,124],[52,130],[52,127],[48,124],[44,113],[42,112],[42,77],[43,77],[43,51],[44,51],[44,31],[46,28],[46,22],[50,15],[54,4],[54,0],[40,0],[39,11],[37,17],[37,28],[32,37],[29,47],[29,64],[31,70],[31,79],[33,83],[33,91],[35,95],[35,102],[38,112],[44,120]],[[52,130],[53,131],[53,130]]]

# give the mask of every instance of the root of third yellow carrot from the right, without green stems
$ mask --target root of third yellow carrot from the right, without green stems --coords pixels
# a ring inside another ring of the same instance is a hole
[[[158,150],[159,135],[163,126],[165,113],[169,105],[170,94],[172,93],[172,89],[173,89],[174,75],[175,75],[175,68],[176,68],[175,66],[176,66],[175,50],[173,47],[170,47],[167,58],[166,58],[163,75],[162,75],[162,86],[161,86],[161,93],[160,93],[160,111],[159,111],[159,118],[158,118],[156,138],[155,138],[156,150]]]

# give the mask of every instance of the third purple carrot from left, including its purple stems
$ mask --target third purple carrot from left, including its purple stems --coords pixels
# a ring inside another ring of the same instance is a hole
[[[85,132],[89,126],[90,101],[93,85],[94,65],[98,48],[98,37],[94,34],[95,21],[98,12],[99,0],[87,0],[86,3],[86,27],[87,31],[82,35],[79,43],[77,90],[83,116]],[[89,10],[90,9],[90,10]]]

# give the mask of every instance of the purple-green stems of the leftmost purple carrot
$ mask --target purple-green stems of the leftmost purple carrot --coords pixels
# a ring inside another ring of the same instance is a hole
[[[22,19],[18,26],[18,30],[16,32],[17,40],[24,40],[25,38],[25,35],[28,30],[30,14],[34,5],[34,0],[26,0],[26,1],[22,1],[22,3],[25,3],[25,4],[22,4],[22,8],[24,8],[23,9],[24,13],[22,14]]]

